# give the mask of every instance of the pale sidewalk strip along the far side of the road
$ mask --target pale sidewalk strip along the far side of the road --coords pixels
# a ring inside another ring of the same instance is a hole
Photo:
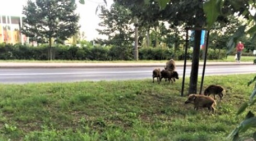
[[[199,62],[199,66],[204,62]],[[176,66],[183,66],[177,62]],[[253,65],[252,62],[206,62],[206,66],[214,65]],[[165,63],[0,63],[0,68],[118,68],[118,67],[164,67]],[[187,62],[186,66],[191,66]]]

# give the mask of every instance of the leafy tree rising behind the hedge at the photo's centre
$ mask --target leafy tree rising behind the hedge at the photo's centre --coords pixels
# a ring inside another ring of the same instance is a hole
[[[128,59],[133,42],[130,10],[119,4],[113,4],[110,10],[103,6],[101,11],[99,18],[103,21],[99,23],[99,26],[103,27],[103,29],[96,30],[99,34],[108,36],[108,40],[97,39],[97,43],[114,45],[114,48],[118,48],[119,58],[121,60]]]

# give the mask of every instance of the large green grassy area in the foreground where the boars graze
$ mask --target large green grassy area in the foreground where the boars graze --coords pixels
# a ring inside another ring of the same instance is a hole
[[[214,115],[184,104],[181,79],[0,85],[0,140],[226,140],[254,75],[205,77],[227,91]]]

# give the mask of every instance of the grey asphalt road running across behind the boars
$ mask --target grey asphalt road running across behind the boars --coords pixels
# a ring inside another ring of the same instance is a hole
[[[127,80],[152,78],[154,67],[132,68],[21,68],[0,69],[0,83],[23,84],[41,82],[72,82],[99,80]],[[206,66],[205,75],[227,75],[255,73],[256,65]],[[183,76],[183,67],[177,67],[179,77]],[[186,68],[189,76],[191,66]],[[199,66],[202,75],[202,66]]]

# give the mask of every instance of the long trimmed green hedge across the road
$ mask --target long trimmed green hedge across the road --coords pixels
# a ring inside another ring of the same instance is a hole
[[[92,46],[82,45],[53,46],[54,58],[56,60],[132,60],[132,48],[122,49],[118,46]],[[203,51],[200,52],[202,58]],[[174,54],[173,49],[161,48],[141,48],[139,49],[140,60],[184,60],[184,50],[177,50]],[[226,50],[208,50],[208,59],[217,60],[226,57]],[[188,50],[187,58],[192,58],[192,50]],[[1,60],[48,60],[48,46],[43,44],[39,46],[27,46],[21,44],[0,44]]]

